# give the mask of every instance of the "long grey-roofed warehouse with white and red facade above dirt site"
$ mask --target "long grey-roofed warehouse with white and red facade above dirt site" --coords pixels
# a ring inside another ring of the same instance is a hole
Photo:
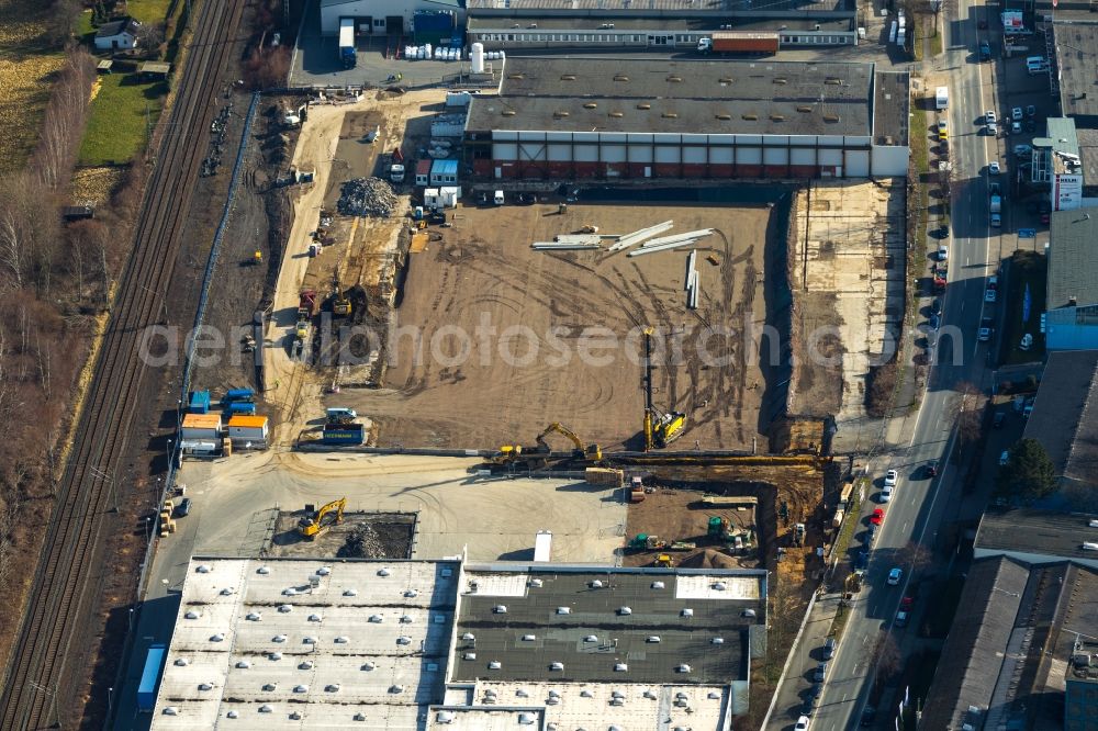
[[[463,154],[497,180],[904,177],[908,86],[872,64],[509,58]]]

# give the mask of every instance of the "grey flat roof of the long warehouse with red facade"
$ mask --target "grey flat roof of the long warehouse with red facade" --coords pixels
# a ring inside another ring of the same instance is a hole
[[[508,58],[466,128],[869,136],[872,79],[872,64]]]

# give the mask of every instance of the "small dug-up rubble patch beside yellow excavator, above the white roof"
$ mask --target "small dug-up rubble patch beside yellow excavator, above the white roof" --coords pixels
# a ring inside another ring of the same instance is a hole
[[[304,510],[279,514],[271,541],[271,555],[412,558],[414,514],[345,513],[341,524],[332,526],[314,540],[306,540],[298,535],[298,521],[304,515]]]

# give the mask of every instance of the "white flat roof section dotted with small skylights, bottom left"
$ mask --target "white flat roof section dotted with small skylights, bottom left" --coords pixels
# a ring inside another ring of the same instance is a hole
[[[459,569],[192,560],[152,728],[416,728],[442,697]]]

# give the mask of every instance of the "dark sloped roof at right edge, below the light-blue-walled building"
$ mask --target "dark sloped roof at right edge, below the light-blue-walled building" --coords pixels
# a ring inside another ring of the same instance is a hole
[[[1096,375],[1098,350],[1049,353],[1024,436],[1044,446],[1057,475],[1098,487]]]

